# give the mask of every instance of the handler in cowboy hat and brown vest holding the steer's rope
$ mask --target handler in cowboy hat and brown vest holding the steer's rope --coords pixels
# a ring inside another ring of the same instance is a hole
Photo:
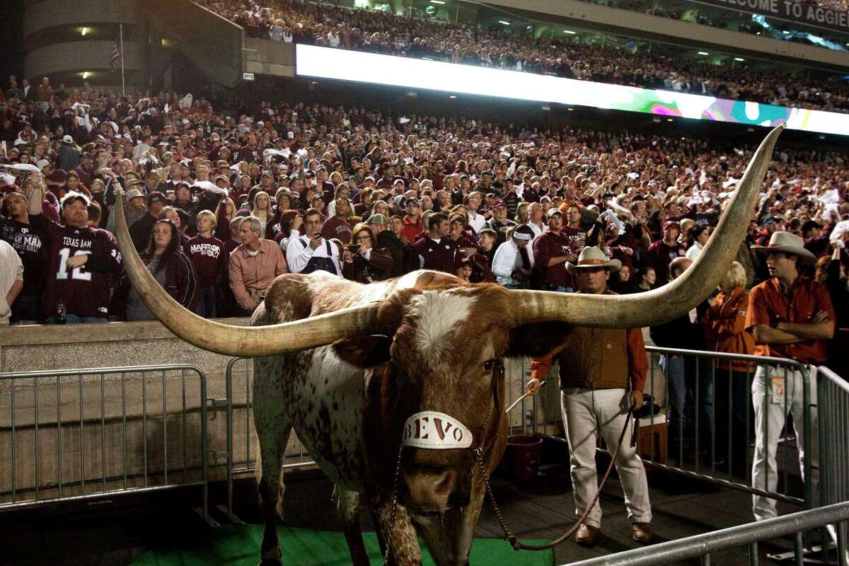
[[[582,249],[576,264],[566,263],[566,269],[575,276],[578,293],[614,294],[607,289],[607,280],[621,265],[619,260],[608,260],[601,249],[588,246]],[[557,352],[531,362],[528,389],[536,393],[556,356],[560,365],[560,401],[569,440],[575,513],[582,515],[599,489],[595,469],[599,432],[612,450],[619,442],[622,429],[633,428],[628,408],[638,410],[643,405],[648,362],[640,328],[575,328]],[[633,539],[649,542],[649,485],[643,462],[629,441],[631,434],[633,430],[625,435],[619,446],[616,472],[625,491]],[[575,540],[582,545],[592,545],[600,528],[601,507],[596,501]]]

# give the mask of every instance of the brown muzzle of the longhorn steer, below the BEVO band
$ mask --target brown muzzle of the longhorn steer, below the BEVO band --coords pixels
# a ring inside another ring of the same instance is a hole
[[[443,513],[469,505],[469,474],[456,468],[431,468],[402,473],[401,500],[412,513]]]

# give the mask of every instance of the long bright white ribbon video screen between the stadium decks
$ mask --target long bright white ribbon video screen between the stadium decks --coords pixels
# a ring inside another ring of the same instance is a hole
[[[667,117],[849,134],[849,114],[786,108],[699,94],[577,81],[514,70],[297,45],[298,76],[424,88],[515,100],[644,112]]]

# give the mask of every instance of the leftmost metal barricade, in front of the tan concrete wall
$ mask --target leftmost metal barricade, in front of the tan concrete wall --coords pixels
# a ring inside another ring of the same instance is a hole
[[[188,364],[0,373],[0,512],[199,486],[216,524],[206,401]]]

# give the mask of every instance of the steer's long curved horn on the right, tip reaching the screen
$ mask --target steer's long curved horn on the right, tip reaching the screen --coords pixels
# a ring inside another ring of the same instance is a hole
[[[687,272],[648,293],[629,295],[511,291],[515,325],[562,321],[576,326],[641,328],[680,317],[711,294],[728,271],[745,237],[758,193],[784,125],[769,132],[752,156],[717,230]]]

